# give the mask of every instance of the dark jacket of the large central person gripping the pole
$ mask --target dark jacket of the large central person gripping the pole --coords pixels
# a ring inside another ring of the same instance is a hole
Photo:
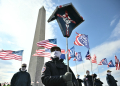
[[[72,73],[72,82],[77,86],[77,80],[70,68],[69,71]],[[52,58],[52,61],[46,62],[43,66],[41,75],[42,83],[45,86],[67,86],[62,78],[62,75],[66,72],[67,66],[63,63],[63,60]]]

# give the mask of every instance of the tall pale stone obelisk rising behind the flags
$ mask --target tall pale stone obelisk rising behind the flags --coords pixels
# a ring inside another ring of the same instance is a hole
[[[41,83],[41,69],[44,64],[44,57],[35,57],[33,56],[33,54],[35,54],[37,49],[43,49],[41,47],[38,47],[36,43],[45,40],[45,21],[46,10],[44,7],[41,7],[38,13],[38,19],[28,68],[28,72],[31,76],[32,86],[43,86],[43,84]]]

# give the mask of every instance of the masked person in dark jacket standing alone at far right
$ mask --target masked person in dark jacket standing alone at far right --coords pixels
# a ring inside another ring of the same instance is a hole
[[[118,81],[114,79],[114,77],[111,75],[111,72],[112,71],[107,70],[107,76],[106,76],[107,83],[109,86],[117,86],[116,82]]]

